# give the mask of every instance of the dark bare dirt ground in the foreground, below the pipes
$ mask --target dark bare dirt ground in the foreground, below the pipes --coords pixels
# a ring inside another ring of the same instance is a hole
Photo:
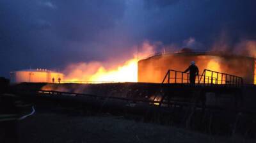
[[[181,128],[143,123],[103,114],[74,116],[35,113],[18,126],[19,142],[255,142],[239,137],[214,137]]]

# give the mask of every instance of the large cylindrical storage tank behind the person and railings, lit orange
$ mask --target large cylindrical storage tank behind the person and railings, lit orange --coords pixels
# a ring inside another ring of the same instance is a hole
[[[211,52],[177,52],[158,54],[138,62],[138,82],[161,83],[169,69],[184,72],[195,61],[202,74],[204,69],[243,77],[244,84],[254,84],[255,59],[246,56]]]

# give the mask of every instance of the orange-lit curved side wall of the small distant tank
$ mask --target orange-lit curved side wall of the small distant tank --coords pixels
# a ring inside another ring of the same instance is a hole
[[[12,82],[52,82],[53,77],[56,82],[59,77],[63,80],[62,73],[21,71],[13,73]]]

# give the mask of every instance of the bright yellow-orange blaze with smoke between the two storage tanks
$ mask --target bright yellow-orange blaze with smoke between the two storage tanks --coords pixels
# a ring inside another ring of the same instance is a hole
[[[108,69],[103,63],[76,63],[70,64],[65,70],[66,82],[138,82],[138,60],[154,53],[154,45],[144,42],[140,51],[134,53],[122,65],[113,65]],[[137,47],[138,49],[138,47]],[[139,59],[140,58],[140,59]]]

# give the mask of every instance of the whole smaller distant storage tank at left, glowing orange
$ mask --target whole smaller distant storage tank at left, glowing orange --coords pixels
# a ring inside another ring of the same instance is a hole
[[[20,82],[58,82],[60,78],[63,81],[63,73],[53,72],[51,70],[37,68],[29,70],[19,70],[10,73],[12,83]]]

